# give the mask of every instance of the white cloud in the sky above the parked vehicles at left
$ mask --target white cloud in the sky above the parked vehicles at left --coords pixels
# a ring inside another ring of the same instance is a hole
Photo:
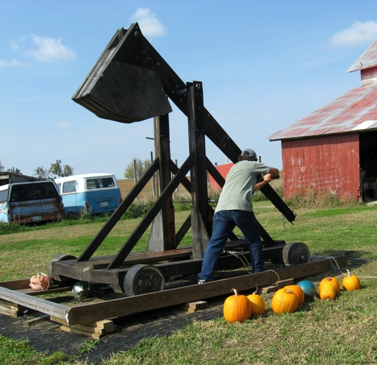
[[[22,55],[33,57],[34,60],[43,62],[74,60],[76,58],[74,50],[64,46],[61,39],[37,36],[35,34],[31,35],[31,39],[37,48],[30,48]]]

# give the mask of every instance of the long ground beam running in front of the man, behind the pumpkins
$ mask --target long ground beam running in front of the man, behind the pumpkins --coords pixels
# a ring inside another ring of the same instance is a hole
[[[339,266],[345,266],[345,256],[335,258]],[[263,273],[242,275],[230,279],[216,280],[201,285],[191,285],[177,289],[157,291],[127,298],[114,299],[101,303],[91,303],[72,307],[67,311],[67,322],[70,325],[83,322],[93,322],[100,319],[121,317],[147,310],[166,308],[192,301],[201,301],[230,294],[232,288],[239,291],[250,291],[255,287],[274,284],[279,280],[298,279],[319,273],[324,273],[332,268],[333,259],[322,259],[312,263],[298,266],[289,266],[276,270],[267,270]]]

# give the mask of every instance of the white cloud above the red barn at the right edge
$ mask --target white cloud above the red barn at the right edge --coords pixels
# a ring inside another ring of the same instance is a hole
[[[355,22],[348,29],[331,37],[333,46],[357,46],[361,43],[375,41],[377,38],[377,22]]]

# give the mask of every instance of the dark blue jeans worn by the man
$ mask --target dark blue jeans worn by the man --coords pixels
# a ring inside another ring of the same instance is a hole
[[[204,252],[199,279],[213,280],[213,271],[235,226],[241,230],[249,244],[251,272],[263,271],[263,245],[254,213],[243,210],[221,210],[213,216],[212,236]]]

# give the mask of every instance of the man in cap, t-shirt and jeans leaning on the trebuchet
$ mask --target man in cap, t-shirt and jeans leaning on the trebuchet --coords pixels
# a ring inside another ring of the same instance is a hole
[[[263,181],[257,182],[258,175],[264,175]],[[213,271],[235,226],[242,231],[249,245],[251,272],[263,271],[263,244],[253,213],[251,198],[254,191],[278,177],[279,170],[258,163],[256,152],[252,149],[244,150],[239,156],[238,162],[227,174],[223,191],[218,200],[213,216],[212,236],[206,252],[204,252],[198,284],[213,280]]]

